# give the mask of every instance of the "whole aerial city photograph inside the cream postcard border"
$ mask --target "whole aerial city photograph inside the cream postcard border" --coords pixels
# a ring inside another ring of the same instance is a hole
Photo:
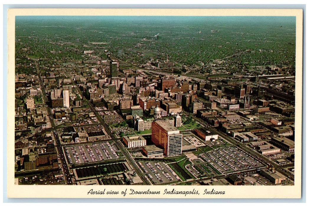
[[[16,16],[15,185],[294,185],[295,48],[293,16]]]

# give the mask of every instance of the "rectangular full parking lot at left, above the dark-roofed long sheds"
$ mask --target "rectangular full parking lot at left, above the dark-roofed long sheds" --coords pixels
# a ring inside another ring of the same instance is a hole
[[[114,142],[103,142],[70,146],[65,147],[64,152],[69,164],[83,164],[117,159],[117,149],[113,144]]]

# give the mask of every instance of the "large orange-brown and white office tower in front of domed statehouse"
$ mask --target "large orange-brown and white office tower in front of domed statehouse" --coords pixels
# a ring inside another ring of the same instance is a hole
[[[164,149],[166,157],[179,156],[182,153],[182,134],[164,120],[156,120],[151,124],[151,140]]]

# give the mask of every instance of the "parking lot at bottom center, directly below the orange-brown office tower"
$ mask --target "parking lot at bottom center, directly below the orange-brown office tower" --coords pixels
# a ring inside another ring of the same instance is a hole
[[[164,162],[137,162],[137,164],[141,172],[155,185],[181,180]]]

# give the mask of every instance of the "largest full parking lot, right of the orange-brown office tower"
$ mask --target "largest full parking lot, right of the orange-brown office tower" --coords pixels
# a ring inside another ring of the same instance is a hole
[[[229,174],[264,166],[251,155],[234,146],[212,150],[202,154],[201,157],[219,174]]]

